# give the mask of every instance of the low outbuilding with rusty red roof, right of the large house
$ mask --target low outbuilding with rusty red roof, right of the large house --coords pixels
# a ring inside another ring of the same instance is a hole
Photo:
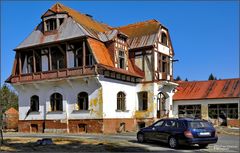
[[[240,78],[178,84],[174,117],[199,117],[215,125],[240,127]]]

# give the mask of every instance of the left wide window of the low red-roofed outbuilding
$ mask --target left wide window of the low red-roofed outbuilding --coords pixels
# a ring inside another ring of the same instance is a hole
[[[178,117],[201,118],[201,105],[178,105]]]

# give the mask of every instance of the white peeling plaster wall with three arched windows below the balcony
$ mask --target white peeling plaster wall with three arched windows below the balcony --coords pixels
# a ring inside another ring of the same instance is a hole
[[[65,79],[42,81],[34,84],[14,85],[19,93],[19,120],[62,120],[67,119],[99,119],[102,118],[102,88],[95,78]],[[58,92],[63,96],[63,112],[51,112],[50,96]],[[80,92],[89,94],[89,110],[76,111],[77,95]],[[39,112],[31,112],[30,97],[39,96]],[[46,106],[45,106],[46,105]],[[46,115],[45,115],[46,114]]]

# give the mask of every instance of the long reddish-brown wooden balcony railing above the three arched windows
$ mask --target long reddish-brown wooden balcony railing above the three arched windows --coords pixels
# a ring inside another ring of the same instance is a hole
[[[30,82],[30,81],[40,81],[40,80],[50,80],[58,78],[67,78],[74,76],[85,76],[97,74],[97,66],[86,66],[86,67],[75,67],[75,68],[65,68],[53,71],[44,71],[36,73],[28,73],[11,76],[7,81],[10,83],[17,82]]]

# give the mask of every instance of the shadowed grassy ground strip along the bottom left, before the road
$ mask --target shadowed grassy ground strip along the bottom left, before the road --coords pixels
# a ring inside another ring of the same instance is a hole
[[[5,139],[1,152],[148,152],[145,148],[123,146],[118,143],[91,142],[80,140],[53,140],[54,144],[38,145],[36,142],[19,143]]]

